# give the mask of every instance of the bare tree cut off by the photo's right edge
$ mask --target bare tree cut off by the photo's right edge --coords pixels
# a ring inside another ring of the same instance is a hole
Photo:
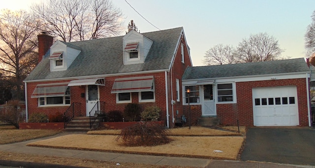
[[[306,56],[309,57],[315,53],[315,11],[313,12],[312,23],[307,27],[305,37]]]

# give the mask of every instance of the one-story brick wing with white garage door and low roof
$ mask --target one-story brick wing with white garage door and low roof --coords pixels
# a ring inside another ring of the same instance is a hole
[[[218,117],[223,125],[311,126],[310,68],[303,58],[188,67],[183,103],[192,121]]]

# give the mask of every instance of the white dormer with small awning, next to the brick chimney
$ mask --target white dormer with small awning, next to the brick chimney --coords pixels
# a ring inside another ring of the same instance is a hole
[[[67,70],[80,52],[79,47],[57,40],[50,47],[50,71]]]

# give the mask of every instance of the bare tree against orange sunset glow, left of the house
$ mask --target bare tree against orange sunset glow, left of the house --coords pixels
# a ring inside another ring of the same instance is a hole
[[[0,73],[13,99],[25,99],[23,80],[37,64],[37,23],[26,11],[1,11]]]

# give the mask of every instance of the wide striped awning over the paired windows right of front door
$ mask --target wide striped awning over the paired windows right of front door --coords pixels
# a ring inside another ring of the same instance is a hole
[[[153,82],[153,76],[115,79],[111,93],[153,92]]]

